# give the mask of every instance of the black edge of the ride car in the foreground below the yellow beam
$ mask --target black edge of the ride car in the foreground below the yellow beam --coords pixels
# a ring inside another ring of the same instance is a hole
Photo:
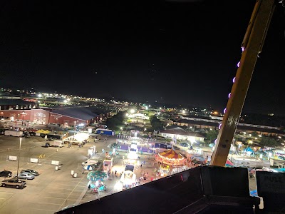
[[[69,213],[254,213],[247,168],[197,167],[58,211]]]

